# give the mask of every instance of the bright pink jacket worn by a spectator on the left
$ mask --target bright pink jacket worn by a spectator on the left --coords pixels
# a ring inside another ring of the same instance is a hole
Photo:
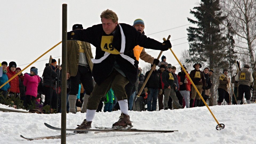
[[[24,74],[23,85],[27,87],[26,95],[32,95],[37,97],[37,87],[40,82],[38,75],[30,76],[27,73]]]

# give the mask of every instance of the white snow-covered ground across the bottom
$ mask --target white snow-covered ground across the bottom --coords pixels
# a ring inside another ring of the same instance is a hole
[[[0,107],[6,108],[0,104]],[[179,130],[174,133],[111,132],[77,134],[66,138],[67,143],[255,143],[256,104],[222,105],[210,107],[223,130],[206,107],[178,110],[129,111],[133,128],[150,130]],[[85,113],[67,114],[67,128],[75,128],[85,119]],[[92,127],[110,127],[119,119],[120,111],[96,113]],[[1,143],[60,143],[61,139],[27,141],[20,137],[59,135],[43,123],[60,127],[61,114],[30,114],[0,112]],[[67,131],[70,132],[70,131]]]

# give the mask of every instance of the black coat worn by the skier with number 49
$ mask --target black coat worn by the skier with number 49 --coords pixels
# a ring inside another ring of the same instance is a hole
[[[139,31],[137,31],[133,26],[127,25],[125,23],[120,23],[119,25],[122,26],[123,33],[125,35],[126,43],[124,54],[133,58],[135,64],[132,65],[129,61],[122,58],[119,54],[110,54],[101,63],[94,63],[92,75],[95,82],[98,85],[100,85],[113,71],[115,61],[120,66],[120,69],[123,71],[128,80],[133,85],[137,80],[138,74],[138,63],[136,61],[136,58],[134,57],[133,48],[139,45],[147,49],[162,49],[161,42],[158,42],[151,38],[147,38],[145,35],[142,35]],[[114,35],[110,34],[113,35],[112,46],[118,51],[121,50],[121,32],[119,25],[117,26]],[[73,36],[73,40],[89,42],[96,47],[95,59],[99,59],[104,56],[105,51],[101,50],[101,39],[102,36],[109,35],[107,35],[103,31],[102,24],[94,25],[83,30],[70,31],[67,33],[68,39],[71,39],[71,33],[73,32],[75,33]]]

